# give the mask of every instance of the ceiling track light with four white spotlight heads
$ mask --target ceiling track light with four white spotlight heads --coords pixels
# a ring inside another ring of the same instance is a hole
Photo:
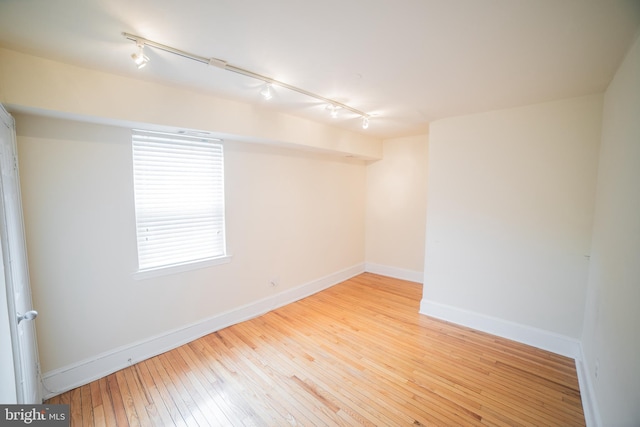
[[[371,117],[369,114],[364,111],[360,111],[356,108],[353,108],[347,104],[343,104],[341,102],[335,101],[333,99],[325,98],[324,96],[315,94],[313,92],[309,92],[308,90],[287,84],[285,82],[272,79],[270,77],[264,76],[262,74],[258,74],[251,70],[247,70],[246,68],[237,67],[235,65],[229,64],[227,61],[218,58],[205,58],[203,56],[198,56],[184,50],[176,49],[171,46],[167,46],[164,44],[156,43],[154,41],[136,36],[134,34],[122,33],[122,35],[133,42],[138,46],[138,52],[131,55],[131,58],[135,61],[138,68],[142,68],[147,65],[149,62],[149,58],[144,55],[143,49],[145,46],[151,46],[156,49],[164,50],[165,52],[172,53],[174,55],[182,56],[183,58],[191,59],[193,61],[197,61],[206,65],[211,65],[216,68],[221,68],[226,71],[231,71],[233,73],[242,74],[247,77],[251,77],[257,80],[262,80],[265,82],[264,87],[260,90],[260,94],[264,97],[264,99],[269,100],[273,97],[273,85],[277,85],[279,87],[283,87],[285,89],[289,89],[291,91],[300,93],[302,95],[309,96],[311,98],[315,98],[316,100],[321,101],[322,103],[327,104],[327,109],[329,110],[331,117],[338,117],[338,110],[347,110],[351,113],[362,118],[362,128],[367,129],[369,127],[369,118]]]

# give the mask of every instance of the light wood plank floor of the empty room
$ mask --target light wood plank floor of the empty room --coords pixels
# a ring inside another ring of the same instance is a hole
[[[49,403],[72,426],[584,425],[573,360],[418,314],[362,274]]]

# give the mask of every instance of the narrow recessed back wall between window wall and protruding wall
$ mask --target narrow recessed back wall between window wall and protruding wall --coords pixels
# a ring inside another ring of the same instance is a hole
[[[428,136],[383,142],[367,166],[367,269],[422,281]]]

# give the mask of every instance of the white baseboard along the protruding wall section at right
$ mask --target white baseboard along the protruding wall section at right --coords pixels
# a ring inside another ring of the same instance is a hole
[[[582,360],[580,341],[564,335],[426,299],[420,302],[420,313],[551,351],[576,361]]]

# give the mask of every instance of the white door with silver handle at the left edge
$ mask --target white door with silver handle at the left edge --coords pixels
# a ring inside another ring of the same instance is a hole
[[[0,242],[16,401],[42,403],[15,135],[13,117],[0,105]]]

